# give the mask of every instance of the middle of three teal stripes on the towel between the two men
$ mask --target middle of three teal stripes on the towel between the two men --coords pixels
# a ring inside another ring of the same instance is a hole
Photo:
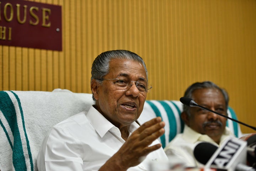
[[[161,105],[164,107],[164,109],[167,113],[168,120],[169,120],[169,127],[170,127],[169,142],[170,142],[170,140],[172,140],[175,137],[175,135],[177,134],[176,118],[175,118],[174,112],[172,111],[171,107],[166,102],[159,101],[159,103],[161,103]]]

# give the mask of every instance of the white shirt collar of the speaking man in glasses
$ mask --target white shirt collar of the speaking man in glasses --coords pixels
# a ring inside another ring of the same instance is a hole
[[[86,117],[90,121],[92,127],[102,138],[111,128],[115,127],[110,121],[108,121],[100,112],[97,111],[93,106],[90,107],[89,111],[86,114]],[[129,128],[129,133],[132,133],[134,130],[139,128],[139,125],[136,122],[133,122]]]

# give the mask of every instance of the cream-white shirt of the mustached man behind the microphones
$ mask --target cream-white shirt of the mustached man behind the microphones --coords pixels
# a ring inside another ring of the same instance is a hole
[[[204,141],[219,147],[229,136],[234,135],[231,133],[229,128],[226,127],[222,137],[220,138],[220,144],[217,144],[208,135],[200,134],[185,125],[183,133],[177,134],[164,150],[167,156],[176,156],[185,161],[187,167],[203,167],[204,165],[199,163],[194,157],[193,151],[195,146]]]

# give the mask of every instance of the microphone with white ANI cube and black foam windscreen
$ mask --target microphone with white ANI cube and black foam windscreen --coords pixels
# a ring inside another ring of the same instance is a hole
[[[219,148],[211,143],[202,142],[194,148],[194,157],[206,168],[255,171],[246,165],[246,146],[246,141],[234,137],[227,138]]]

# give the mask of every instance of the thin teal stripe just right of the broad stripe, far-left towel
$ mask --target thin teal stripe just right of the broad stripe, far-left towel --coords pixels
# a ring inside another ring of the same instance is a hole
[[[29,156],[29,159],[30,159],[30,167],[31,167],[31,171],[33,171],[34,170],[34,165],[33,165],[33,160],[32,160],[30,144],[29,144],[29,141],[28,141],[27,132],[26,132],[26,128],[25,128],[25,121],[24,121],[24,115],[23,115],[23,110],[22,110],[22,107],[21,107],[20,98],[18,97],[18,95],[15,92],[13,92],[13,91],[11,91],[11,92],[14,94],[14,96],[15,96],[17,102],[18,102],[19,108],[20,108],[20,113],[21,113],[21,118],[22,118],[22,126],[23,126],[25,137],[26,137],[28,156]]]

